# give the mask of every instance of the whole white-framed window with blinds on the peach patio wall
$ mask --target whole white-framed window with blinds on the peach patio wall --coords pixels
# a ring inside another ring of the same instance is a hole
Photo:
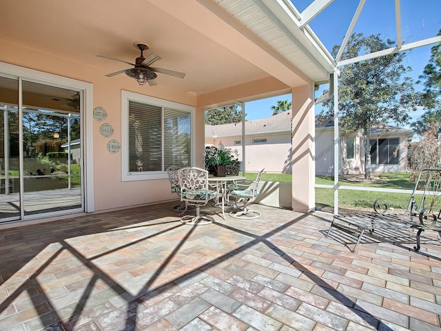
[[[192,165],[193,109],[123,91],[123,180],[166,178],[170,165]]]

